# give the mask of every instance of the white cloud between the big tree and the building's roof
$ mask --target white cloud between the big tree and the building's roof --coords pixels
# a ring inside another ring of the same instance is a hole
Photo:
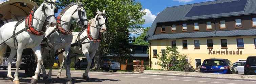
[[[142,16],[142,18],[146,20],[145,24],[152,24],[155,20],[156,15],[152,14],[149,9],[144,9],[143,11],[146,13],[144,16]]]

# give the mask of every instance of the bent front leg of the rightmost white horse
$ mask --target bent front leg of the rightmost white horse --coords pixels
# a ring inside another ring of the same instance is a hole
[[[86,56],[86,59],[87,59],[87,68],[85,70],[85,73],[83,74],[83,78],[88,81],[90,80],[90,77],[89,77],[89,70],[90,70],[90,67],[91,67],[91,62],[92,62],[92,58],[93,56],[95,55],[96,51],[92,52],[91,54],[89,54],[88,50],[85,50],[83,51],[84,55]]]

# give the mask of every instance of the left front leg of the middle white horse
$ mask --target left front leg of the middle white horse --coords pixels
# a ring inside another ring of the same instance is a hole
[[[55,55],[55,50],[51,49],[50,50],[49,72],[48,72],[48,78],[46,79],[49,83],[52,82],[51,71],[52,71],[52,66],[54,65],[54,57],[55,57],[54,55]]]

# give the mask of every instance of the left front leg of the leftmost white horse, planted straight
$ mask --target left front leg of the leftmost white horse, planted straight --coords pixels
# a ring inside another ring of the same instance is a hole
[[[21,64],[21,55],[22,55],[22,51],[23,51],[23,47],[21,46],[22,44],[18,45],[18,49],[17,49],[17,61],[16,61],[16,71],[14,74],[14,80],[13,83],[14,84],[20,84],[20,80],[19,80],[19,68],[20,68],[20,64]]]

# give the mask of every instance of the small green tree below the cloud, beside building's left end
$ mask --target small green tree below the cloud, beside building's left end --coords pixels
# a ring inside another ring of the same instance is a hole
[[[148,32],[149,28],[150,27],[147,27],[147,28],[143,29],[143,33],[140,36],[138,36],[132,44],[133,45],[146,45],[146,46],[148,46],[149,45],[148,41],[146,41],[144,39],[147,35],[147,32]]]

